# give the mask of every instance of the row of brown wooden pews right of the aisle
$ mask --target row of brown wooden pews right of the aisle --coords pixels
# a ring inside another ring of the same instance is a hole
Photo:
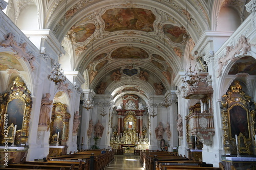
[[[202,161],[195,161],[184,156],[177,155],[176,152],[165,151],[141,151],[140,162],[145,170],[174,170],[174,169],[212,169],[224,170],[220,167],[203,167]],[[222,164],[222,163],[221,163]],[[223,165],[223,164],[222,164]]]

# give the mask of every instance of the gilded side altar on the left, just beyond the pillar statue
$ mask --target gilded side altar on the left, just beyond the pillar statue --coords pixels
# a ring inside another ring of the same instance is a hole
[[[56,144],[57,140],[54,140],[54,137],[57,135],[54,131],[54,126],[57,122],[61,121],[60,125],[61,133],[59,136],[59,142],[61,145],[66,145],[67,140],[69,138],[69,119],[70,114],[67,112],[67,105],[62,103],[54,103],[52,109],[52,119],[51,119],[51,127],[50,127],[50,144]]]

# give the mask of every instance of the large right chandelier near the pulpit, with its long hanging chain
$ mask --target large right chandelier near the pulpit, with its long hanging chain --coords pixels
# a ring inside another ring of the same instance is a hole
[[[187,13],[187,1],[186,1],[186,13]],[[186,17],[187,17],[187,15],[186,15]],[[189,35],[188,18],[187,18],[187,35]],[[194,86],[201,80],[201,77],[200,77],[200,75],[198,75],[195,68],[193,70],[191,68],[190,45],[188,45],[188,53],[189,53],[189,68],[186,71],[184,77],[182,78],[182,82],[189,86]]]

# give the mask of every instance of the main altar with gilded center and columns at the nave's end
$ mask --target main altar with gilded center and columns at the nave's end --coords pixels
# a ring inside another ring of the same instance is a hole
[[[113,149],[123,149],[125,153],[134,150],[147,150],[149,140],[146,128],[143,128],[142,103],[136,95],[126,95],[118,105],[117,130],[112,133],[110,145]]]

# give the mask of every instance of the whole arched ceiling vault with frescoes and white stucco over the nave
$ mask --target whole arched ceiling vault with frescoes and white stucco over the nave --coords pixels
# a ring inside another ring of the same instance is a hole
[[[63,22],[65,2],[50,3],[46,28],[59,41],[62,34],[69,38],[75,54],[72,68],[87,72],[89,87],[96,91],[100,82],[107,82],[105,93],[113,94],[115,100],[127,93],[146,99],[154,94],[156,82],[161,82],[164,91],[174,88],[172,81],[184,68],[187,40],[191,37],[197,42],[210,28],[211,7],[203,0],[68,0]],[[137,72],[129,78],[126,69]],[[120,74],[120,79],[113,81],[113,74]]]

